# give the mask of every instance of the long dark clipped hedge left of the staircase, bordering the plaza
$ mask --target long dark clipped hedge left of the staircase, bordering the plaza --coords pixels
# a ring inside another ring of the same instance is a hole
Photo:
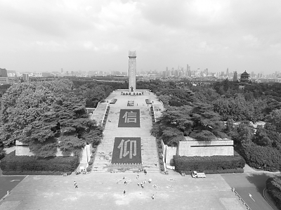
[[[2,171],[6,171],[4,173],[18,171],[17,174],[23,174],[22,172],[25,171],[48,171],[47,174],[50,174],[50,171],[74,171],[78,161],[78,157],[48,157],[43,159],[34,156],[15,156],[14,151],[1,160],[0,167]]]

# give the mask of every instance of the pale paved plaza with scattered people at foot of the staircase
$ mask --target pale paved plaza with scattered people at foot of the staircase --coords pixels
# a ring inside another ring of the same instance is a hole
[[[0,202],[0,210],[245,209],[220,175],[197,179],[178,173],[140,173],[138,179],[136,175],[27,176]],[[152,182],[148,183],[150,178]],[[144,188],[138,186],[145,180]],[[74,188],[74,181],[78,188]]]

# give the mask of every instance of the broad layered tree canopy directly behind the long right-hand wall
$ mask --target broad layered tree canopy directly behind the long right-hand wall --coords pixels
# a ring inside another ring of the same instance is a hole
[[[181,107],[167,107],[159,122],[152,128],[152,133],[163,139],[167,145],[176,145],[184,136],[197,140],[228,138],[223,133],[225,126],[219,114],[211,105],[195,103]]]

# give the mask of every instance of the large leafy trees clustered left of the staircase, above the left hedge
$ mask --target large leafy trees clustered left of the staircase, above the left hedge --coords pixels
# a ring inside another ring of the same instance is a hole
[[[103,129],[89,119],[85,104],[69,80],[13,85],[1,98],[0,142],[20,140],[39,157],[98,144]]]

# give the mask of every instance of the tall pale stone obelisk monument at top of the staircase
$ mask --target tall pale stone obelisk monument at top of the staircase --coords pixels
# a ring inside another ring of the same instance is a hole
[[[136,91],[136,51],[129,51],[129,92]]]

